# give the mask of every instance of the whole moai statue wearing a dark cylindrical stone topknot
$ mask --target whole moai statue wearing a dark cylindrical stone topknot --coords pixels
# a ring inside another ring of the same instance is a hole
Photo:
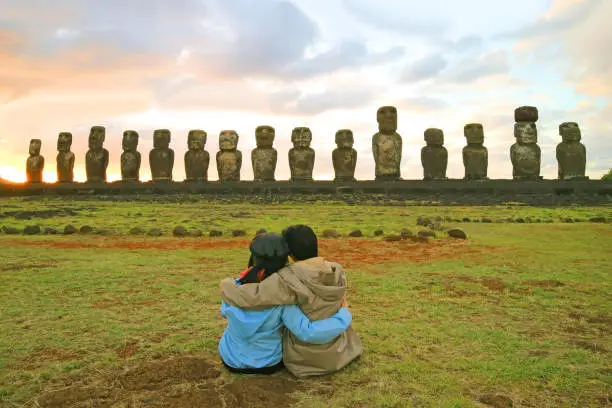
[[[510,148],[512,177],[515,180],[541,180],[540,163],[542,153],[538,146],[538,109],[522,106],[514,111],[514,137],[516,143]]]

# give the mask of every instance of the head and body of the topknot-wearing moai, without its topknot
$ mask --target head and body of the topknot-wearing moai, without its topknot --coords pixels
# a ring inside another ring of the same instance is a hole
[[[534,122],[517,122],[514,125],[516,143],[510,148],[512,177],[515,180],[540,180],[541,151],[537,145],[537,129]]]

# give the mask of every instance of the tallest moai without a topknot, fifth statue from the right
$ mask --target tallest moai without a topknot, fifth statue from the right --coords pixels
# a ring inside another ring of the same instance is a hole
[[[383,106],[376,112],[378,133],[372,138],[376,180],[400,180],[402,137],[397,133],[397,109]]]

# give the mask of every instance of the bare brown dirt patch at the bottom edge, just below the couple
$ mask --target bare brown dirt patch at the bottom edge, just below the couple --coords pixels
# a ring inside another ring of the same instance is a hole
[[[300,383],[281,374],[226,382],[218,364],[182,356],[146,362],[119,375],[87,378],[41,395],[34,406],[59,407],[286,407]]]

